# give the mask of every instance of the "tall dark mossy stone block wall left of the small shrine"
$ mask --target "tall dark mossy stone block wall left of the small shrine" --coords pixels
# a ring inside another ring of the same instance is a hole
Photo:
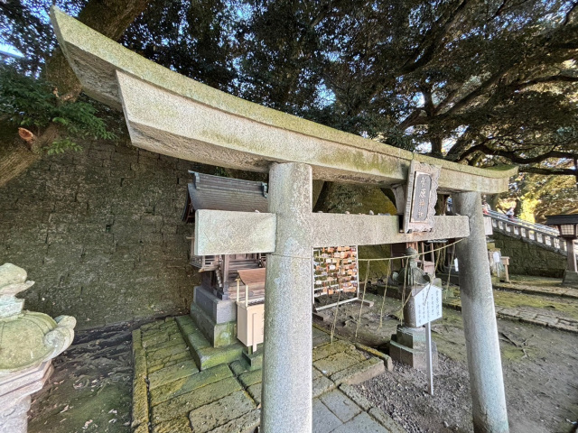
[[[0,188],[0,264],[36,284],[25,309],[79,328],[181,314],[198,276],[181,222],[187,170],[129,144],[85,143],[42,158]]]

